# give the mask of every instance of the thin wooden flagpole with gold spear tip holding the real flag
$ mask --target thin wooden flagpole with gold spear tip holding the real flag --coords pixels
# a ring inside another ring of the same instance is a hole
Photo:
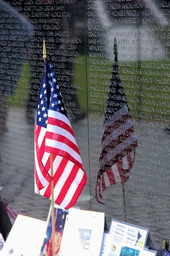
[[[45,40],[43,43],[43,58],[47,59],[47,48]],[[51,177],[53,178],[53,154],[50,154],[50,167]],[[55,222],[54,222],[54,183],[51,181],[51,219],[52,219],[52,244],[53,244],[53,256],[55,256]]]

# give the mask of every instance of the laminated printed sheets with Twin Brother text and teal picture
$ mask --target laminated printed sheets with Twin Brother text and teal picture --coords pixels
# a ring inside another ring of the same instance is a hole
[[[146,245],[148,229],[112,219],[104,232],[100,256],[138,256]]]

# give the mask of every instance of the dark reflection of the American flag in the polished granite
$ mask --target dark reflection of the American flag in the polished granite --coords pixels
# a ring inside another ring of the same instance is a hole
[[[96,200],[101,204],[104,204],[102,192],[107,186],[128,180],[137,147],[127,99],[119,77],[116,38],[114,54],[96,183]]]

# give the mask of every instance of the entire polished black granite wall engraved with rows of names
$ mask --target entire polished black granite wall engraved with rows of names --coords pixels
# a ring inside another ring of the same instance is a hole
[[[0,2],[0,194],[11,207],[45,219],[50,204],[33,193],[45,39],[88,176],[76,206],[105,212],[108,226],[147,227],[161,252],[170,239],[169,12],[159,0]]]

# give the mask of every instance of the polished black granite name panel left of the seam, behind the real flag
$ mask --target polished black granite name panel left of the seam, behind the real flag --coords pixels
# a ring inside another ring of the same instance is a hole
[[[87,184],[77,206],[90,209],[83,1],[11,1],[1,6],[1,195],[18,212],[47,218],[50,200],[34,194],[34,123],[44,72],[53,66]]]

